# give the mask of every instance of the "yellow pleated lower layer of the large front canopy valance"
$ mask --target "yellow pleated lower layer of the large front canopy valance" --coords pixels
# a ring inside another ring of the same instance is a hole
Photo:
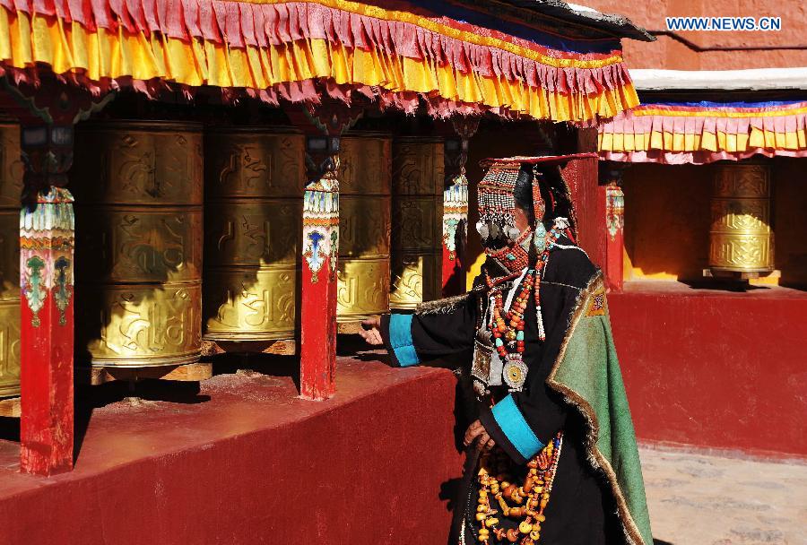
[[[282,82],[331,79],[339,84],[414,91],[490,108],[508,108],[536,119],[586,121],[612,117],[638,105],[633,86],[601,94],[552,93],[503,77],[462,74],[381,51],[343,48],[325,39],[267,48],[229,48],[204,39],[185,42],[143,32],[90,32],[79,23],[8,13],[0,8],[0,61],[16,68],[47,63],[56,74],[83,73],[92,81],[131,76],[189,86],[266,89]]]

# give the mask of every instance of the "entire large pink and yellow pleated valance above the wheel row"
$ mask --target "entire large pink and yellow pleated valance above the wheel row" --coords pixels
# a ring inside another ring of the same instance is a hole
[[[383,5],[0,0],[0,74],[35,79],[46,64],[93,92],[167,82],[271,104],[360,92],[409,112],[425,99],[438,116],[586,122],[638,104],[618,39],[559,38],[445,1]]]

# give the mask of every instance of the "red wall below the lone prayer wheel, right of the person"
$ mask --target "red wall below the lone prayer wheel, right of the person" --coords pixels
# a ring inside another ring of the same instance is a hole
[[[807,456],[807,293],[681,290],[609,296],[640,440]]]

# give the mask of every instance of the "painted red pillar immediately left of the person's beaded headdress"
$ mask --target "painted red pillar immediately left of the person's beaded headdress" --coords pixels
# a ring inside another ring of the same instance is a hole
[[[459,139],[447,139],[446,188],[443,192],[443,297],[465,291],[465,243],[468,238],[468,142],[479,128],[479,117],[454,117]]]

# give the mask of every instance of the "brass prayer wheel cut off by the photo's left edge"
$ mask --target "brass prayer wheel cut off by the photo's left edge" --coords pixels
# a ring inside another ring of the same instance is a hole
[[[0,398],[20,394],[20,125],[0,123]]]

